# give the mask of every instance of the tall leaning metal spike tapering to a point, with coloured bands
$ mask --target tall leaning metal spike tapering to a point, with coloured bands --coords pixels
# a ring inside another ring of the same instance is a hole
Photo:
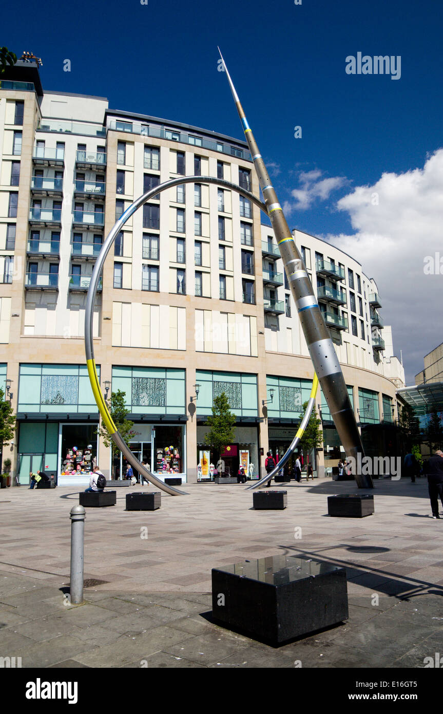
[[[220,48],[218,51],[220,52]],[[248,142],[250,154],[253,158],[268,216],[274,229],[275,238],[277,238],[287,280],[297,306],[303,334],[305,335],[315,372],[319,378],[327,406],[330,408],[338,436],[345,448],[345,453],[347,456],[355,458],[355,463],[357,463],[357,453],[364,455],[362,440],[332,339],[327,331],[317,298],[307,276],[305,263],[302,261],[302,256],[300,256],[294,238],[287,226],[282,207],[278,203],[277,193],[275,193],[275,188],[270,181],[265,162],[260,154],[221,52],[220,57],[228,77],[238,116],[240,116],[240,121],[243,125],[245,139]],[[359,488],[374,488],[372,478],[369,475],[356,473],[355,480]]]

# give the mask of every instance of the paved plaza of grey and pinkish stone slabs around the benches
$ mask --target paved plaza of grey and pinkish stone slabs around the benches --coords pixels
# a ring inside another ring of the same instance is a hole
[[[78,491],[2,489],[0,656],[26,668],[423,668],[442,651],[443,519],[430,517],[423,478],[375,481],[375,514],[362,519],[327,516],[327,496],[353,482],[275,488],[285,511],[254,511],[245,486],[210,483],[126,512],[141,487],[118,488],[116,506],[86,509],[79,606],[66,595]],[[298,553],[347,569],[347,622],[280,648],[213,623],[211,568]]]

